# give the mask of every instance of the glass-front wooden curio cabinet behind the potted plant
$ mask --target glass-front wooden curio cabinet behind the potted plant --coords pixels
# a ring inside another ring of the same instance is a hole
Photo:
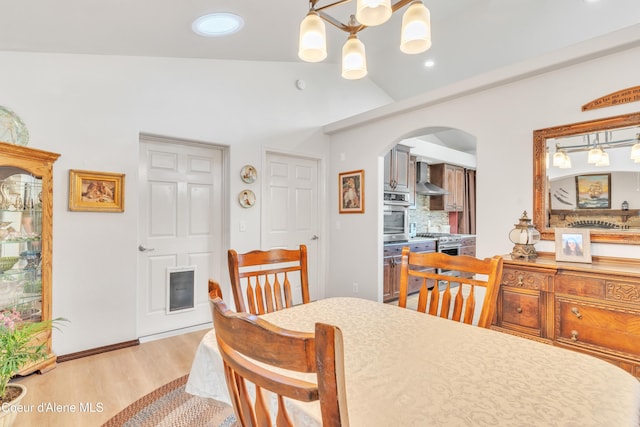
[[[0,311],[26,322],[51,319],[53,163],[59,154],[0,142]],[[20,374],[55,366],[48,357]]]

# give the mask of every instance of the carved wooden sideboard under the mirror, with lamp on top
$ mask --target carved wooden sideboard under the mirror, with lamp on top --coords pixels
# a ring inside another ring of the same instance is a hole
[[[504,257],[493,329],[607,360],[640,378],[640,266]]]

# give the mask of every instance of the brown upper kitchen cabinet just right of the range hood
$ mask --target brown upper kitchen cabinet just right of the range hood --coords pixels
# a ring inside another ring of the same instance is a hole
[[[460,212],[464,209],[464,168],[447,163],[430,166],[429,180],[444,188],[449,194],[431,196],[430,208],[434,211]]]

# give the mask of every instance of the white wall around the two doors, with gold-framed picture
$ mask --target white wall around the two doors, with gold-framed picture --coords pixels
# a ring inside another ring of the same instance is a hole
[[[253,249],[260,183],[257,206],[239,207],[240,168],[261,172],[267,148],[324,161],[322,125],[390,102],[367,80],[341,79],[335,64],[16,52],[0,52],[0,63],[0,105],[26,123],[30,147],[62,154],[54,165],[53,315],[70,323],[54,331],[58,354],[137,338],[140,132],[230,147],[225,239]],[[295,87],[299,78],[304,91]],[[68,211],[69,169],[125,173],[125,212]],[[226,267],[220,275],[228,281]]]

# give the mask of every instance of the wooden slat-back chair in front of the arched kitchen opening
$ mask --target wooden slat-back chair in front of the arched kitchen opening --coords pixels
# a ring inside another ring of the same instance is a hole
[[[459,277],[449,276],[438,274],[438,269],[469,274],[461,274]],[[486,278],[483,279],[477,275]],[[467,255],[453,256],[440,252],[411,252],[408,247],[405,247],[402,250],[398,306],[407,307],[409,282],[417,280],[420,286],[418,311],[426,313],[428,308],[429,314],[472,324],[478,299],[476,288],[483,287],[485,294],[481,301],[482,305],[479,307],[478,326],[488,328],[493,321],[501,277],[501,256],[478,259]],[[445,286],[442,295],[439,284]],[[451,311],[452,308],[453,311]],[[438,309],[440,309],[439,313]]]

